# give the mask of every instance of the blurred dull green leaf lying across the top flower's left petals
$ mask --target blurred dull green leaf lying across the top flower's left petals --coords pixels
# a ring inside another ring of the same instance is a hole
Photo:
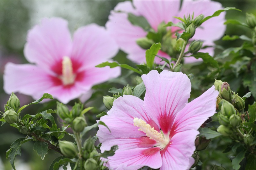
[[[145,31],[148,31],[151,28],[147,19],[143,16],[136,16],[132,13],[128,13],[128,20],[131,22],[132,25],[139,26],[143,28]]]

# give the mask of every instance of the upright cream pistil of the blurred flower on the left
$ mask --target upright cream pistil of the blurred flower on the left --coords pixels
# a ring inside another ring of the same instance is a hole
[[[62,76],[60,76],[63,85],[71,85],[75,82],[76,75],[73,74],[72,61],[64,56],[62,60]]]

